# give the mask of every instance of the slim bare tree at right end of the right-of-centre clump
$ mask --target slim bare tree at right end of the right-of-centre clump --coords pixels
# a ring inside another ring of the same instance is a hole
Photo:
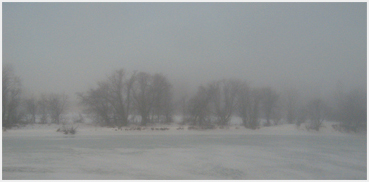
[[[267,123],[265,126],[270,126],[270,118],[271,118],[271,114],[273,109],[276,107],[277,104],[277,100],[279,95],[277,94],[277,92],[275,90],[273,90],[270,87],[266,87],[261,89],[261,94],[262,94],[262,108],[267,120]]]

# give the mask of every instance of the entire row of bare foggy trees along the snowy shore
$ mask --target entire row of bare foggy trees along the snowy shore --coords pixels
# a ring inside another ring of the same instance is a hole
[[[20,78],[11,65],[3,66],[3,128],[25,124],[63,123],[69,106],[66,94],[41,94],[22,97]],[[306,129],[319,130],[323,120],[338,121],[334,129],[366,131],[366,91],[353,89],[335,94],[334,104],[322,98],[301,102],[297,90],[280,94],[272,87],[253,88],[241,79],[222,79],[200,85],[190,97],[174,101],[173,86],[161,74],[113,71],[94,88],[77,93],[85,114],[108,127],[125,127],[132,123],[142,126],[171,124],[174,113],[182,115],[180,124],[200,129],[225,127],[233,116],[242,119],[246,128],[278,125],[281,119]],[[261,123],[261,118],[266,122]],[[82,122],[83,117],[74,118]]]

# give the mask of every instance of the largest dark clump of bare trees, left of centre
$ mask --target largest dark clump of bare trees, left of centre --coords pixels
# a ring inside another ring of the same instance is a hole
[[[103,126],[127,126],[136,116],[143,126],[172,122],[172,86],[162,74],[128,75],[120,69],[97,85],[86,93],[78,93],[78,97],[86,113]]]

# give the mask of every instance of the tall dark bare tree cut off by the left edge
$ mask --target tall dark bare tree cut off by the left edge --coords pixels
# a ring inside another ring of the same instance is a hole
[[[3,127],[10,128],[21,120],[18,111],[21,102],[21,83],[20,79],[14,75],[11,65],[3,66],[2,80]]]

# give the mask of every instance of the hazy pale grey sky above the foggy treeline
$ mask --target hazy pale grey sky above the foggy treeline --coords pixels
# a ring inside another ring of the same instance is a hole
[[[366,3],[3,3],[3,64],[31,92],[84,92],[113,70],[175,88],[221,78],[365,87]]]

